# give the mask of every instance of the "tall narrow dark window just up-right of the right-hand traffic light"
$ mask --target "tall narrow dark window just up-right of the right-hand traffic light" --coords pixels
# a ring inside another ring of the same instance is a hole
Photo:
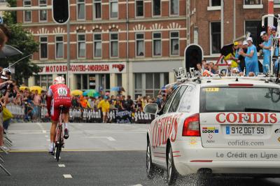
[[[218,54],[221,50],[221,22],[211,22],[211,54]]]

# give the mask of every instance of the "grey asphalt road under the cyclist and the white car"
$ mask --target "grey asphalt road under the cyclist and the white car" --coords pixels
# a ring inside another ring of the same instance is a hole
[[[0,185],[166,185],[165,176],[146,178],[145,125],[71,124],[59,162],[46,153],[48,126],[10,127],[14,145],[9,155],[1,155],[12,176],[0,169]],[[190,175],[176,185],[280,185],[280,179]]]

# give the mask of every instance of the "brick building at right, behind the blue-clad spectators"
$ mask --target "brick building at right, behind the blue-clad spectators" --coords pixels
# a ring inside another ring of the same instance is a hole
[[[258,46],[261,43],[260,32],[262,29],[262,15],[267,14],[267,0],[226,0],[224,2],[224,45],[232,43],[236,38],[244,36],[246,31],[251,32],[253,43]],[[187,3],[187,27],[189,53],[197,55],[188,57],[190,63],[202,55],[205,59],[213,60],[220,56],[221,48],[221,0],[188,0]],[[280,13],[280,1],[274,0],[274,13]],[[276,21],[275,24],[276,25]],[[192,66],[192,65],[191,65]]]

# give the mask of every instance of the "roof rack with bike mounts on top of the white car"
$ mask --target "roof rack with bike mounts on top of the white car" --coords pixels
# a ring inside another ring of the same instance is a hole
[[[174,69],[174,74],[176,76],[177,82],[186,82],[186,81],[198,81],[199,83],[201,83],[202,80],[207,80],[210,81],[211,80],[222,80],[222,79],[236,79],[237,81],[239,79],[245,79],[245,80],[264,80],[267,82],[273,82],[273,83],[280,83],[279,78],[273,77],[273,76],[267,76],[267,75],[258,75],[258,76],[253,76],[253,77],[249,77],[249,76],[220,76],[219,74],[214,74],[212,76],[206,77],[206,76],[202,76],[200,73],[198,73],[197,71],[195,71],[194,68],[190,68],[190,71],[186,71],[186,68],[179,68],[178,70]]]

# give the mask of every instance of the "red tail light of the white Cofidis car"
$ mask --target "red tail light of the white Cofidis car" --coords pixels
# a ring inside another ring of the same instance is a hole
[[[183,124],[183,136],[200,136],[200,114],[186,118]]]

